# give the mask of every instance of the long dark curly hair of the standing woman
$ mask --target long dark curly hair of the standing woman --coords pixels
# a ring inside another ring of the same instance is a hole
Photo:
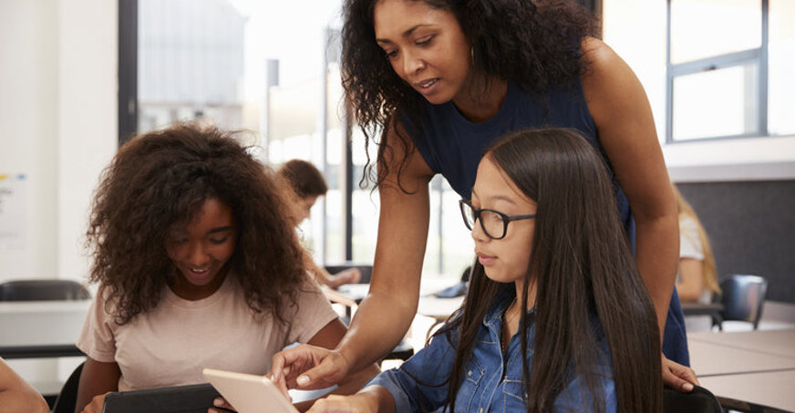
[[[367,157],[362,178],[378,185],[398,165],[398,176],[407,165],[414,146],[399,132],[396,120],[408,119],[419,133],[424,98],[395,73],[384,50],[376,43],[373,12],[379,0],[346,0],[343,6],[342,83],[346,101],[365,135],[365,147],[378,147],[377,174]],[[566,0],[413,0],[446,10],[470,40],[472,70],[487,78],[516,83],[524,91],[542,96],[550,85],[567,85],[586,69],[580,43],[596,36],[594,16]],[[487,85],[488,86],[488,85]],[[376,136],[396,126],[398,142],[387,135]],[[405,156],[392,159],[391,145],[399,145]]]

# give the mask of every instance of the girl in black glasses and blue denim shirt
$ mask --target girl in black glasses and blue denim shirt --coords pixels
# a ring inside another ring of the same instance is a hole
[[[400,368],[310,411],[660,411],[654,307],[594,148],[571,129],[513,132],[471,193],[462,307]]]

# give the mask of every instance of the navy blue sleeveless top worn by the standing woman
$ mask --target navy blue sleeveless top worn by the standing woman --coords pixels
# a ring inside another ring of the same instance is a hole
[[[460,114],[452,102],[433,105],[426,101],[420,133],[413,132],[415,128],[411,127],[408,119],[403,119],[402,124],[431,170],[444,176],[449,185],[466,199],[470,198],[475,184],[480,157],[497,137],[524,127],[577,129],[602,154],[609,166],[621,220],[635,252],[635,219],[599,142],[599,133],[585,102],[582,84],[578,80],[571,87],[551,86],[547,96],[544,104],[544,101],[524,93],[519,86],[509,82],[500,111],[486,121],[471,122]],[[668,310],[663,352],[667,358],[689,366],[684,316],[676,288]]]

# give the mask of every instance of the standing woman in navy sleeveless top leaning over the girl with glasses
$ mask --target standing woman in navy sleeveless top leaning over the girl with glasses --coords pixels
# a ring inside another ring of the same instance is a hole
[[[346,0],[346,101],[377,144],[380,220],[369,296],[337,351],[301,375],[333,381],[403,337],[418,305],[428,237],[428,182],[470,197],[480,155],[521,127],[573,127],[604,156],[621,219],[663,334],[667,385],[689,391],[676,297],[676,200],[643,86],[596,38],[593,17],[563,0]],[[636,238],[635,238],[636,235]],[[281,366],[313,358],[303,348]],[[293,369],[293,374],[295,373]],[[293,377],[290,380],[294,379]]]

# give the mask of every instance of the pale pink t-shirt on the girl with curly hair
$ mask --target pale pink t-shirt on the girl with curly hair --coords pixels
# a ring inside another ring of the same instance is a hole
[[[255,317],[232,274],[212,296],[196,301],[166,287],[157,307],[121,326],[97,294],[77,348],[119,364],[119,391],[204,383],[203,368],[263,375],[276,352],[309,341],[338,317],[314,280],[307,277],[302,290],[297,311],[284,312],[286,326],[271,315]]]

